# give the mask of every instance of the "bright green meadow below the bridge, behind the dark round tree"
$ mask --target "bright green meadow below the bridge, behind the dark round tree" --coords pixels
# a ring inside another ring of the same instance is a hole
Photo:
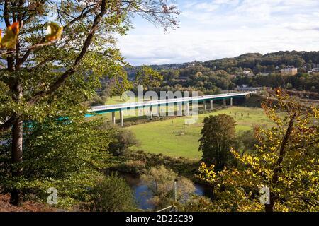
[[[133,131],[140,141],[140,147],[134,149],[145,150],[150,153],[162,153],[174,157],[200,158],[198,151],[198,139],[203,126],[203,118],[216,114],[236,115],[236,131],[252,129],[256,124],[270,126],[271,122],[261,108],[229,107],[216,112],[199,114],[196,124],[184,124],[186,117],[176,117],[164,121],[154,121],[147,124],[130,126],[127,129]],[[249,117],[248,117],[249,113]],[[243,117],[241,116],[243,114]]]

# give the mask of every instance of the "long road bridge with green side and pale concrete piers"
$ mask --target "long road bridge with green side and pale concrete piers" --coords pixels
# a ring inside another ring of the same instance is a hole
[[[193,102],[203,102],[204,110],[206,110],[206,102],[211,103],[211,109],[213,109],[213,100],[223,100],[223,105],[226,106],[226,100],[229,99],[230,106],[233,106],[233,98],[245,97],[246,95],[250,95],[250,93],[254,92],[245,92],[245,93],[227,93],[227,94],[218,94],[218,95],[203,95],[203,96],[195,96],[195,97],[181,97],[181,98],[172,98],[172,99],[164,99],[164,100],[147,100],[143,102],[128,102],[124,104],[118,105],[102,105],[91,107],[88,110],[88,114],[86,117],[94,116],[95,114],[105,114],[108,112],[112,113],[112,121],[113,124],[116,124],[115,112],[120,112],[120,124],[124,126],[123,121],[123,111],[130,109],[138,109],[144,107],[150,107],[150,117],[152,118],[153,112],[152,108],[157,107],[157,117],[160,119],[160,106],[167,105],[179,105],[179,110],[177,112],[177,116],[183,115],[183,105],[184,105],[184,115],[189,115],[189,103]]]

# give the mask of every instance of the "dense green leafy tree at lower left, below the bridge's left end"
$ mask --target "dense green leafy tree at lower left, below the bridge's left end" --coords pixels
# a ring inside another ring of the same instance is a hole
[[[72,121],[72,123],[71,123]],[[19,177],[11,176],[10,133],[0,137],[1,192],[18,189],[33,198],[46,200],[47,189],[57,189],[57,206],[69,208],[89,201],[88,187],[93,187],[108,167],[108,145],[113,129],[101,128],[101,121],[86,121],[69,115],[68,119],[47,118],[25,124],[23,131],[23,168]]]

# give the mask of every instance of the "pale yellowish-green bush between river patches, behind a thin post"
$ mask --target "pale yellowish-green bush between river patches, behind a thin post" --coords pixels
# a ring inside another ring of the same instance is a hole
[[[194,184],[186,177],[179,177],[164,166],[152,167],[142,175],[142,180],[152,192],[150,202],[155,208],[164,208],[174,203],[174,181],[177,180],[177,201],[184,203],[195,191]]]

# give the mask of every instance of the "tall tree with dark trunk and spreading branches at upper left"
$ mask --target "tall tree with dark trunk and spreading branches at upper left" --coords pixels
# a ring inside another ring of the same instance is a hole
[[[1,1],[6,35],[1,40],[0,132],[12,131],[13,165],[23,161],[23,121],[84,111],[81,103],[94,94],[99,78],[124,63],[114,44],[116,35],[131,28],[130,16],[142,15],[166,30],[177,25],[178,13],[168,4],[166,0]],[[47,23],[47,18],[60,25]],[[13,168],[12,177],[23,174],[22,168]],[[11,191],[11,203],[21,203],[18,189]]]

